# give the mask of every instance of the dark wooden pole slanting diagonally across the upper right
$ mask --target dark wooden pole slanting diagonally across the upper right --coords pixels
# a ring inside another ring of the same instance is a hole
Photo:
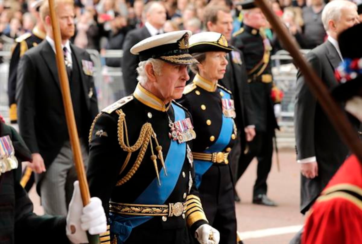
[[[323,84],[320,77],[314,72],[313,68],[307,63],[306,59],[299,52],[298,45],[291,37],[286,27],[283,25],[279,17],[271,10],[266,0],[255,0],[257,6],[262,10],[265,17],[278,35],[278,39],[284,44],[284,47],[293,57],[294,63],[299,67],[305,77],[305,81],[309,86],[313,95],[318,99],[323,110],[331,120],[334,128],[344,141],[344,143],[356,155],[362,164],[362,144],[357,136],[357,132],[353,129],[351,123],[347,119],[344,111],[338,106],[332,98],[327,87]],[[326,138],[328,140],[328,138]]]

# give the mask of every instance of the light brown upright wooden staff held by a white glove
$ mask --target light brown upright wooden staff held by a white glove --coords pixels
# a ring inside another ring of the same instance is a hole
[[[63,105],[66,114],[67,127],[69,138],[73,151],[73,158],[75,163],[75,169],[77,171],[77,177],[79,180],[79,188],[82,196],[83,206],[89,204],[90,201],[90,193],[88,188],[87,177],[84,171],[83,158],[80,150],[79,137],[77,132],[77,126],[75,123],[74,111],[72,98],[70,95],[69,81],[68,75],[66,71],[66,67],[64,64],[64,55],[61,46],[61,37],[60,37],[60,28],[59,23],[55,13],[55,4],[54,0],[49,1],[49,9],[50,9],[50,17],[51,17],[51,25],[53,29],[53,37],[55,42],[55,51],[56,51],[56,66],[58,67],[58,75],[60,81],[60,90],[62,91],[63,97]],[[99,235],[88,235],[89,243],[91,244],[99,244]]]

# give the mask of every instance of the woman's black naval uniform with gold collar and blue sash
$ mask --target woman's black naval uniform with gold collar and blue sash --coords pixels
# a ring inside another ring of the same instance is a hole
[[[192,151],[196,186],[206,218],[220,231],[220,243],[236,243],[233,178],[228,159],[223,157],[222,162],[212,162],[197,157],[197,153],[210,154],[211,151],[228,154],[235,143],[234,120],[223,115],[222,99],[225,98],[232,99],[230,90],[196,74],[193,82],[185,87],[180,103],[190,111],[197,134]],[[235,115],[235,108],[231,110]]]

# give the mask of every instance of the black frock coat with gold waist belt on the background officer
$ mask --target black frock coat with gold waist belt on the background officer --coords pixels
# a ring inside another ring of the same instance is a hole
[[[231,42],[244,54],[256,116],[256,130],[266,132],[279,128],[274,115],[274,104],[270,97],[273,82],[271,80],[269,83],[262,82],[263,75],[271,76],[270,56],[268,55],[266,55],[268,60],[265,60],[267,65],[262,70],[263,60],[268,52],[264,45],[268,42],[267,38],[263,38],[259,30],[244,24],[243,28],[233,34]]]

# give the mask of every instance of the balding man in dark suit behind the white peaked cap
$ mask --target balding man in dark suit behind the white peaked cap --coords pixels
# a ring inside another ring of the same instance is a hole
[[[163,25],[166,22],[166,9],[161,3],[156,1],[147,3],[144,7],[143,15],[146,17],[144,26],[141,29],[129,31],[123,43],[121,66],[126,95],[133,93],[138,83],[136,68],[139,58],[130,52],[131,47],[147,37],[163,33]]]

